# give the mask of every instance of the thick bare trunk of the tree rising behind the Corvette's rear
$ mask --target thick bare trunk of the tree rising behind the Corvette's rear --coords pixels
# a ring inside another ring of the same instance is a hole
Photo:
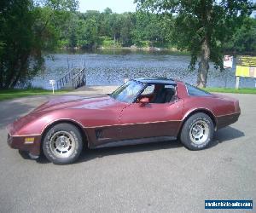
[[[197,74],[197,87],[207,86],[207,75],[209,70],[210,47],[207,37],[201,45],[201,61],[199,62]]]

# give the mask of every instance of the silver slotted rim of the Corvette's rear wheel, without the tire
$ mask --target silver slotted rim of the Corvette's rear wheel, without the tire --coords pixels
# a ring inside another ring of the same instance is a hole
[[[203,144],[207,141],[209,136],[209,125],[204,120],[197,120],[194,124],[191,125],[189,130],[190,140],[195,144]]]

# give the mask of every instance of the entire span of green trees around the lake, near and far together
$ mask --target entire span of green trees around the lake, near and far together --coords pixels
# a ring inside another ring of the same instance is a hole
[[[252,2],[137,0],[136,13],[79,13],[78,0],[0,2],[0,89],[26,84],[57,48],[165,47],[189,51],[191,70],[207,83],[208,62],[222,68],[224,50],[256,52]],[[245,19],[246,17],[246,19]]]

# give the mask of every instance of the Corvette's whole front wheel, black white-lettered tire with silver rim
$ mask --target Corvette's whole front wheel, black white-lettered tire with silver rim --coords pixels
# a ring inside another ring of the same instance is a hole
[[[55,124],[44,135],[43,151],[54,164],[72,164],[83,150],[83,137],[73,124]]]

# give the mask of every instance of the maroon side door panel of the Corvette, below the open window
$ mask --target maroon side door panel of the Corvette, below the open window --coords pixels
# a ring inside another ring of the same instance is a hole
[[[119,118],[120,139],[177,136],[181,124],[183,100],[169,103],[131,103]]]

